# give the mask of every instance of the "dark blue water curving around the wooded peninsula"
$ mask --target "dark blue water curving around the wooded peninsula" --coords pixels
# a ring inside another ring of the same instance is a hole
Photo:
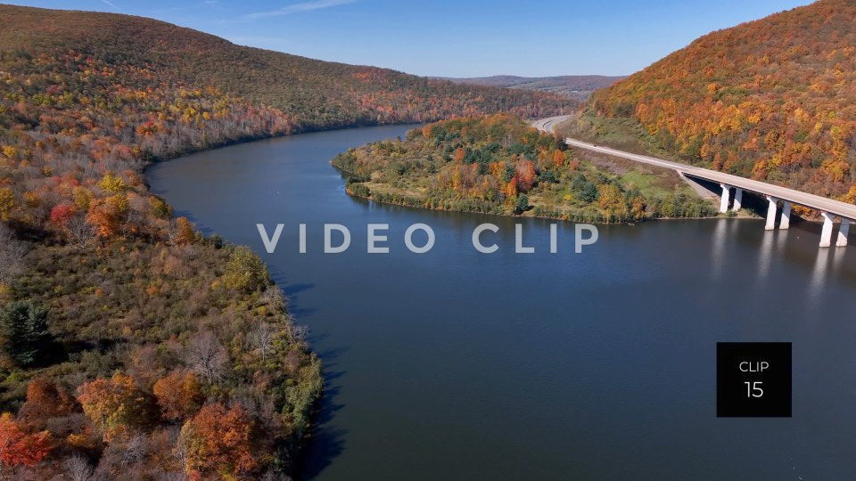
[[[350,198],[329,160],[407,128],[147,170],[177,216],[251,246],[309,327],[326,386],[301,478],[852,477],[856,247],[722,218],[599,225],[576,254],[571,223]],[[275,254],[259,223],[284,224]],[[324,254],[325,223],[348,227],[350,249]],[[492,254],[473,249],[484,223]],[[516,223],[534,253],[514,253]],[[367,252],[367,224],[389,224],[389,253]],[[430,251],[405,247],[412,224],[431,226]],[[793,417],[718,419],[716,343],[755,341],[793,343]]]

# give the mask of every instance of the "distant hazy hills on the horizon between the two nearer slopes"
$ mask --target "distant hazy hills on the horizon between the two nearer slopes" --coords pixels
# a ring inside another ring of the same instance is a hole
[[[457,84],[469,86],[496,86],[520,90],[534,90],[564,95],[564,97],[585,101],[597,89],[613,85],[625,77],[606,77],[603,75],[563,75],[557,77],[517,77],[514,75],[495,75],[492,77],[437,77],[451,80]]]

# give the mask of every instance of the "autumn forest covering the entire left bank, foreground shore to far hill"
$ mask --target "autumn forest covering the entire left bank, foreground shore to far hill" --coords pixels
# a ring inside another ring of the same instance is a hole
[[[320,362],[259,257],[173,218],[146,162],[570,104],[0,5],[0,476],[291,473]]]

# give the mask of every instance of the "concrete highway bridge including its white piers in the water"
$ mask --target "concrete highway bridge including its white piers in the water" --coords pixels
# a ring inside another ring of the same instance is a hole
[[[563,115],[550,118],[541,118],[531,123],[535,128],[548,133],[554,133],[556,126],[570,116]],[[586,149],[588,151],[596,151],[621,157],[622,159],[635,160],[643,164],[648,164],[656,167],[670,168],[678,172],[679,175],[689,176],[698,179],[704,179],[709,182],[719,183],[722,188],[722,196],[720,200],[720,212],[728,212],[728,209],[739,210],[743,202],[743,192],[755,192],[768,201],[767,208],[767,224],[765,229],[768,231],[776,228],[776,217],[779,217],[779,229],[787,229],[790,226],[791,207],[793,205],[812,208],[820,212],[823,216],[823,229],[820,232],[820,247],[827,248],[833,244],[838,247],[847,245],[847,233],[850,231],[850,224],[856,220],[856,206],[841,202],[839,200],[827,199],[819,195],[814,195],[806,192],[779,187],[772,183],[747,179],[739,175],[725,174],[708,168],[695,167],[669,160],[656,159],[645,155],[638,155],[625,151],[602,147],[593,143],[586,143],[572,138],[564,139],[564,142],[572,147]],[[779,207],[781,206],[781,207]],[[835,217],[841,220],[835,242],[833,242],[833,231]]]

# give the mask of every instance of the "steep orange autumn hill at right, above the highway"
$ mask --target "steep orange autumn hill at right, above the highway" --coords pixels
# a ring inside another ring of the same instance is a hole
[[[854,202],[856,2],[713,32],[591,105],[694,163]]]

